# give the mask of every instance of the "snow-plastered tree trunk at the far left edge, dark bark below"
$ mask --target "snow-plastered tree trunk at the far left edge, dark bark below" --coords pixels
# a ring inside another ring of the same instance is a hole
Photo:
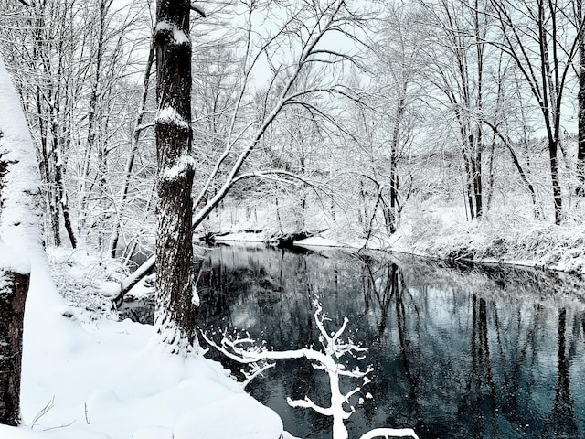
[[[22,332],[30,265],[43,250],[40,175],[25,115],[0,59],[0,423],[20,412]]]

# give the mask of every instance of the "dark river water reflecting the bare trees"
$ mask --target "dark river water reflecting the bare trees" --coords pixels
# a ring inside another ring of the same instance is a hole
[[[347,423],[352,438],[385,426],[413,427],[420,439],[585,437],[580,279],[223,246],[206,253],[198,285],[204,327],[244,329],[275,350],[318,342],[315,294],[331,330],[347,316],[351,337],[369,348],[362,367],[374,367],[363,389],[373,399]],[[345,380],[347,390],[360,382]],[[282,360],[249,390],[292,434],[331,437],[329,419],[286,403],[326,404],[326,374],[308,360]]]

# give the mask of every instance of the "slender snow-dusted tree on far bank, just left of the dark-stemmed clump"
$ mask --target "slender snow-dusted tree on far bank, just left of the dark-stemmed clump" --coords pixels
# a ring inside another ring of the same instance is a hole
[[[374,48],[369,108],[356,106],[357,133],[364,137],[358,147],[366,163],[360,163],[360,198],[371,194],[373,209],[364,212],[367,237],[378,210],[383,229],[397,230],[400,212],[410,197],[408,172],[400,167],[412,152],[413,137],[420,124],[417,108],[422,96],[422,40],[420,20],[414,8],[389,4],[381,21],[378,45]],[[363,204],[363,203],[362,203]]]

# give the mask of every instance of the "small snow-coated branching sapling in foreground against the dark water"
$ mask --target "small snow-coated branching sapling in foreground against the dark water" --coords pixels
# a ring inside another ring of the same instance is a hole
[[[355,406],[351,402],[351,400],[356,401],[356,399],[352,397],[361,393],[362,387],[369,382],[367,374],[373,369],[371,366],[367,366],[367,368],[363,370],[359,367],[351,370],[346,369],[346,366],[341,363],[342,357],[347,354],[359,360],[364,359],[365,357],[362,354],[367,351],[367,348],[359,346],[349,337],[347,337],[346,340],[341,338],[346,331],[348,323],[347,318],[344,318],[343,325],[336,332],[329,333],[324,327],[324,322],[328,320],[328,318],[323,312],[323,306],[317,299],[314,300],[313,305],[315,307],[314,321],[319,329],[321,350],[315,350],[315,348],[312,347],[273,351],[268,350],[264,342],[259,344],[248,334],[246,337],[229,337],[226,332],[223,332],[221,333],[221,340],[219,342],[213,340],[212,337],[215,334],[209,336],[207,332],[201,331],[201,335],[207,341],[209,346],[218,349],[218,351],[229,359],[233,359],[243,364],[250,364],[252,366],[250,372],[246,374],[245,384],[258,376],[263,370],[273,367],[274,363],[271,363],[270,360],[274,359],[305,358],[311,361],[314,369],[324,370],[329,377],[329,389],[331,392],[329,407],[322,407],[316,404],[308,396],[305,396],[303,400],[292,400],[291,398],[288,398],[287,402],[291,407],[310,408],[325,416],[331,416],[333,418],[333,439],[347,439],[348,434],[345,422],[351,414],[356,411]],[[342,377],[362,379],[363,382],[351,391],[343,392],[340,386]],[[367,393],[366,398],[371,397],[372,396]],[[357,399],[358,404],[363,401],[364,400],[361,397]],[[394,435],[411,436],[418,439],[417,435],[411,429],[384,428],[372,430],[367,434],[363,435],[362,438],[367,439],[378,436],[383,437],[384,435]]]

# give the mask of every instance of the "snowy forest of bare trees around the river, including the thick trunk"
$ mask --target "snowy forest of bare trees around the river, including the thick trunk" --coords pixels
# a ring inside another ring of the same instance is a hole
[[[0,0],[0,345],[79,259],[101,314],[152,282],[156,344],[197,354],[194,242],[585,273],[582,6]]]

